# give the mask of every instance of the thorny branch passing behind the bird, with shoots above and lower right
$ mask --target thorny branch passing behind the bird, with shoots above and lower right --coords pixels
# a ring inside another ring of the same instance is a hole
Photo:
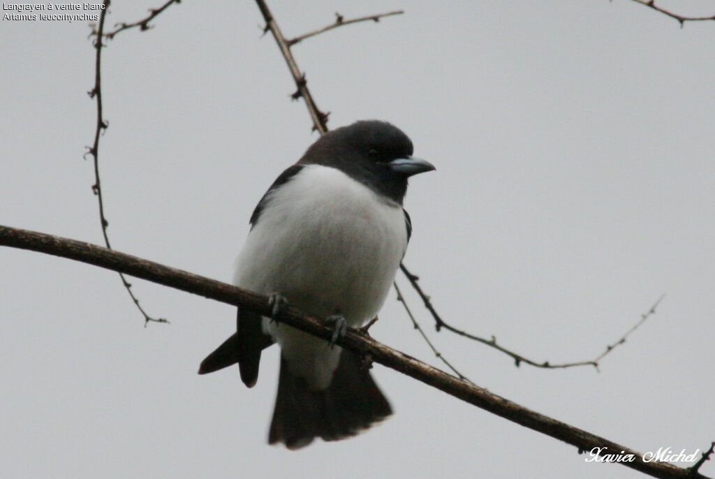
[[[285,36],[283,36],[282,32],[280,31],[280,28],[278,27],[277,22],[275,21],[275,18],[273,17],[273,14],[271,13],[270,9],[268,8],[265,0],[256,0],[256,4],[258,5],[258,8],[261,11],[261,14],[263,16],[263,19],[266,22],[265,28],[263,29],[264,33],[267,33],[267,31],[271,31],[273,34],[273,37],[275,38],[276,43],[278,44],[281,53],[283,54],[283,58],[285,59],[286,63],[288,64],[288,68],[290,69],[290,72],[293,76],[293,80],[295,81],[297,91],[292,94],[293,99],[298,99],[300,97],[303,97],[305,99],[305,106],[308,109],[308,112],[310,113],[310,117],[312,118],[313,121],[313,129],[317,130],[317,132],[320,132],[320,134],[325,134],[327,132],[327,114],[324,114],[320,112],[320,110],[317,108],[315,105],[315,100],[312,98],[312,94],[310,94],[310,90],[307,87],[307,82],[305,80],[305,74],[302,74],[300,72],[300,69],[297,66],[297,63],[295,62],[295,59],[293,58],[291,52],[290,52],[290,47],[293,44],[296,44],[298,41],[301,41],[302,39],[307,39],[310,38],[311,36],[315,36],[317,34],[320,34],[324,31],[328,31],[330,29],[337,28],[338,26],[343,26],[348,23],[355,23],[356,21],[365,21],[365,20],[370,20],[373,19],[377,21],[380,17],[382,16],[388,16],[388,15],[396,15],[396,14],[402,14],[403,11],[392,11],[389,12],[388,14],[380,14],[380,15],[373,15],[373,16],[363,16],[358,19],[353,19],[352,21],[346,21],[345,19],[342,18],[339,14],[337,15],[337,21],[335,21],[334,24],[325,26],[322,29],[318,29],[315,31],[311,31],[310,33],[297,36],[295,39],[287,40],[285,39]],[[647,313],[641,316],[641,320],[631,328],[631,330],[628,330],[625,335],[623,335],[618,341],[616,341],[613,345],[608,345],[606,347],[606,351],[604,351],[601,355],[596,357],[593,360],[588,360],[588,361],[581,361],[581,362],[570,362],[570,363],[564,363],[564,364],[556,364],[552,365],[548,361],[543,361],[543,362],[536,362],[533,360],[530,360],[526,357],[523,357],[522,355],[519,355],[516,352],[513,352],[511,350],[506,349],[506,347],[503,347],[501,345],[498,345],[496,342],[496,337],[492,336],[491,339],[487,340],[483,337],[478,337],[475,335],[471,335],[468,332],[465,332],[463,330],[459,330],[456,327],[453,327],[452,325],[448,324],[445,322],[435,310],[435,307],[433,307],[432,302],[430,301],[430,297],[425,294],[425,292],[422,290],[420,287],[418,280],[419,277],[417,275],[413,275],[408,268],[400,263],[400,270],[405,274],[405,277],[408,278],[410,281],[410,284],[415,288],[415,290],[418,292],[420,297],[422,298],[425,307],[427,310],[432,314],[433,318],[435,319],[435,325],[437,330],[439,331],[441,328],[445,328],[446,330],[449,330],[451,332],[454,332],[455,334],[458,334],[463,337],[468,337],[471,340],[475,340],[478,342],[482,342],[485,345],[488,345],[489,347],[493,347],[496,350],[500,350],[501,352],[505,353],[506,355],[509,355],[513,358],[515,364],[517,366],[521,365],[521,363],[525,363],[528,365],[532,365],[534,367],[542,367],[545,369],[563,369],[566,367],[575,367],[575,366],[593,366],[598,369],[598,361],[601,360],[604,356],[606,356],[611,350],[613,350],[614,347],[623,344],[623,342],[626,342],[626,337],[631,334],[638,326],[640,326],[650,315],[653,315],[656,311],[655,308],[663,297],[659,298],[658,301],[656,301],[656,304],[651,307],[651,310]],[[398,301],[400,301],[403,304],[403,307],[405,307],[405,310],[408,313],[408,316],[410,316],[410,319],[413,321],[413,325],[415,325],[415,328],[419,330],[420,334],[423,336],[425,341],[428,343],[429,347],[435,352],[435,355],[442,360],[445,365],[450,367],[453,372],[455,372],[456,375],[459,377],[466,379],[460,372],[455,370],[453,365],[451,365],[445,358],[438,352],[438,350],[435,349],[434,345],[430,340],[428,340],[427,336],[425,335],[425,332],[418,326],[417,322],[415,321],[415,318],[412,315],[412,312],[410,311],[410,308],[407,305],[407,302],[405,302],[405,298],[403,295],[400,294],[400,291],[398,290],[397,283],[395,282],[395,290],[398,292]]]

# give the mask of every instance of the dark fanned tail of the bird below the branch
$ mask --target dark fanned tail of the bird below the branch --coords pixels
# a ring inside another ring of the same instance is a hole
[[[314,438],[340,440],[392,414],[390,403],[357,355],[342,350],[330,386],[314,390],[281,358],[268,443],[299,449]]]

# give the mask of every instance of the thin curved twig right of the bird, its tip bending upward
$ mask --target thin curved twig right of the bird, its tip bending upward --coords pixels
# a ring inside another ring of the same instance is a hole
[[[403,273],[405,273],[405,277],[410,281],[410,284],[415,288],[415,291],[417,291],[418,295],[420,295],[420,298],[422,298],[422,301],[425,304],[425,307],[427,310],[432,313],[432,317],[435,320],[435,329],[440,331],[442,328],[445,328],[445,330],[449,330],[451,332],[454,332],[457,335],[467,337],[470,340],[478,341],[481,342],[485,345],[488,345],[489,347],[493,347],[495,350],[499,350],[503,352],[504,354],[511,356],[514,360],[514,364],[518,367],[521,365],[521,363],[525,363],[534,367],[543,367],[545,369],[566,369],[567,367],[576,367],[576,366],[593,366],[596,367],[596,370],[598,370],[598,361],[601,360],[604,356],[606,356],[609,352],[613,351],[614,348],[616,348],[618,345],[623,344],[626,342],[626,338],[628,335],[631,335],[633,331],[638,329],[640,325],[642,325],[651,315],[654,315],[656,313],[656,307],[660,304],[660,302],[663,300],[665,297],[665,294],[661,295],[661,297],[658,298],[658,300],[654,303],[653,306],[651,306],[651,309],[648,310],[648,312],[645,312],[641,315],[641,319],[636,323],[636,325],[633,325],[631,329],[629,329],[626,334],[621,336],[616,342],[614,342],[611,345],[606,346],[606,350],[601,353],[601,355],[596,356],[593,360],[588,360],[588,361],[578,361],[578,362],[565,362],[563,364],[551,364],[551,362],[548,361],[543,361],[543,362],[536,362],[534,360],[530,360],[527,357],[523,357],[522,355],[513,352],[511,350],[506,349],[506,347],[503,347],[501,345],[498,345],[496,342],[496,337],[492,336],[490,339],[485,339],[484,337],[479,337],[472,335],[466,331],[460,330],[442,319],[442,317],[439,315],[437,310],[435,310],[435,307],[432,305],[432,301],[430,300],[430,297],[425,294],[425,292],[422,290],[422,287],[420,287],[420,284],[418,281],[420,280],[420,277],[417,275],[413,275],[410,270],[405,267],[405,265],[400,265],[400,270],[402,270]]]

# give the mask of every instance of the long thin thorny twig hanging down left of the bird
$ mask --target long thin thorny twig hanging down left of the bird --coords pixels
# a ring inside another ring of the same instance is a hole
[[[92,192],[97,197],[97,202],[99,203],[99,221],[102,224],[102,235],[104,236],[104,245],[107,248],[112,249],[112,245],[109,244],[109,234],[107,234],[107,227],[109,227],[109,222],[107,221],[107,216],[104,214],[104,199],[102,197],[102,182],[99,180],[99,137],[104,133],[104,131],[109,127],[109,123],[104,119],[102,115],[102,39],[104,38],[104,19],[107,17],[107,11],[109,11],[109,4],[111,0],[104,0],[104,9],[102,9],[102,14],[99,15],[99,24],[97,29],[92,31],[92,36],[94,36],[94,49],[96,50],[94,56],[94,88],[89,92],[89,97],[97,99],[97,129],[94,131],[94,143],[92,147],[87,147],[87,153],[84,157],[87,158],[87,154],[92,155],[94,160],[94,184],[92,185]],[[144,311],[142,305],[139,305],[139,300],[134,295],[132,291],[132,285],[127,281],[127,278],[120,272],[119,277],[122,278],[122,285],[129,293],[129,297],[132,298],[134,305],[137,305],[139,312],[144,315],[144,327],[147,326],[148,322],[169,322],[163,317],[154,318]]]

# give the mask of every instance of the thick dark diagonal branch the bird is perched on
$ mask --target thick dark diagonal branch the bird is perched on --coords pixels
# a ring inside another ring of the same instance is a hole
[[[156,282],[160,285],[173,287],[177,290],[201,295],[228,305],[240,306],[260,315],[271,315],[271,307],[267,296],[258,295],[255,292],[243,290],[207,277],[159,265],[142,258],[124,255],[97,245],[6,226],[0,226],[0,245],[81,261]],[[277,320],[325,340],[330,340],[330,337],[332,337],[332,328],[325,321],[307,315],[295,307],[286,307],[285,310],[279,313]],[[364,357],[369,356],[381,365],[402,372],[466,403],[548,435],[551,438],[571,444],[578,448],[581,453],[591,451],[593,448],[623,451],[621,454],[632,454],[633,460],[618,462],[618,464],[641,471],[655,478],[707,479],[697,470],[678,468],[669,463],[658,461],[646,462],[642,455],[623,445],[613,443],[585,430],[574,428],[571,425],[524,408],[482,387],[448,375],[436,367],[415,360],[415,358],[405,355],[403,352],[383,345],[358,330],[348,328],[345,336],[337,340],[337,344]]]

